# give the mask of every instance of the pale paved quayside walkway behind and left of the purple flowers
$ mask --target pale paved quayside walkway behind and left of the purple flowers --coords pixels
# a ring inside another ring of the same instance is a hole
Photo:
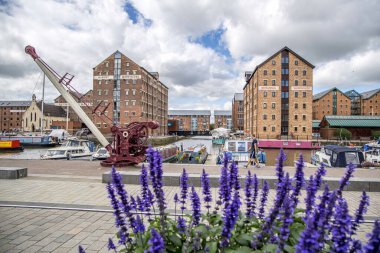
[[[1,166],[7,165],[1,162]],[[96,167],[97,162],[83,161],[48,161],[42,163],[43,166],[34,161],[29,166],[20,165],[30,162],[27,160],[12,162],[12,166],[27,166],[32,174],[18,180],[0,180],[0,252],[78,252],[78,245],[90,253],[108,252],[107,240],[114,237],[116,229],[100,175],[109,168]],[[181,170],[181,167],[177,169]],[[216,171],[219,167],[215,168]],[[189,169],[189,172],[193,171]],[[126,185],[126,189],[129,194],[137,195],[140,186]],[[196,190],[200,192],[200,188]],[[164,187],[164,191],[168,208],[173,210],[172,200],[179,188]],[[217,191],[212,189],[214,200]],[[273,203],[274,193],[270,191],[268,203]],[[305,192],[302,194],[304,198]],[[344,192],[351,214],[359,204],[360,194]],[[380,193],[370,192],[368,195],[371,205],[366,219],[373,221],[380,217]],[[5,207],[10,204],[42,208]],[[53,209],[45,209],[49,206]],[[60,210],[62,208],[75,210]],[[371,228],[372,224],[362,225],[359,238],[366,240],[365,234]]]

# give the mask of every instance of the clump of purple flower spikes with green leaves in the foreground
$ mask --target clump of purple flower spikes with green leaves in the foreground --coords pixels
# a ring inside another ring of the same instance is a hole
[[[210,180],[203,170],[201,195],[189,185],[185,169],[180,176],[180,191],[167,199],[163,191],[162,158],[148,150],[148,169],[142,166],[138,196],[130,196],[121,176],[112,169],[113,182],[107,185],[118,229],[118,246],[109,240],[115,252],[379,252],[380,222],[376,221],[368,243],[356,239],[363,222],[369,197],[363,191],[356,213],[348,212],[342,195],[353,176],[347,167],[338,189],[323,183],[324,166],[308,180],[304,179],[300,156],[293,177],[285,173],[285,154],[277,160],[275,200],[269,209],[269,184],[261,185],[250,171],[240,185],[238,167],[225,160],[219,179],[219,194],[212,206]],[[305,208],[301,189],[306,189]],[[323,190],[318,196],[318,190]],[[166,209],[175,203],[174,215]],[[201,212],[201,207],[203,212]],[[84,252],[81,249],[81,252]]]

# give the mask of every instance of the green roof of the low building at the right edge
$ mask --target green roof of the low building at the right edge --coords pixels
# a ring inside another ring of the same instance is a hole
[[[327,115],[324,116],[322,126],[329,127],[376,127],[380,128],[380,116],[335,116]]]

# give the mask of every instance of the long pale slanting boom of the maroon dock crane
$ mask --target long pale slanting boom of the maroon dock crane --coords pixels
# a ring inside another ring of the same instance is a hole
[[[40,67],[42,72],[49,78],[51,83],[55,86],[55,88],[59,91],[59,93],[63,96],[66,102],[73,108],[75,113],[79,116],[79,118],[86,124],[86,126],[90,129],[90,131],[94,134],[94,136],[99,140],[100,144],[107,148],[107,150],[112,149],[110,143],[104,137],[104,135],[99,131],[99,129],[95,126],[92,120],[87,116],[87,114],[82,110],[80,105],[75,101],[75,99],[70,95],[70,93],[65,89],[62,85],[61,80],[57,73],[55,73],[49,65],[47,65],[36,53],[36,50],[32,46],[25,47],[25,52],[32,56],[33,60]]]

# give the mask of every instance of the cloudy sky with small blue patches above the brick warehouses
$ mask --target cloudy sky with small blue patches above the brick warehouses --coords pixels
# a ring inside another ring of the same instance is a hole
[[[314,93],[380,88],[376,0],[0,0],[0,24],[0,100],[42,96],[26,45],[83,93],[119,50],[159,72],[169,109],[230,109],[244,72],[284,46],[315,66]]]

